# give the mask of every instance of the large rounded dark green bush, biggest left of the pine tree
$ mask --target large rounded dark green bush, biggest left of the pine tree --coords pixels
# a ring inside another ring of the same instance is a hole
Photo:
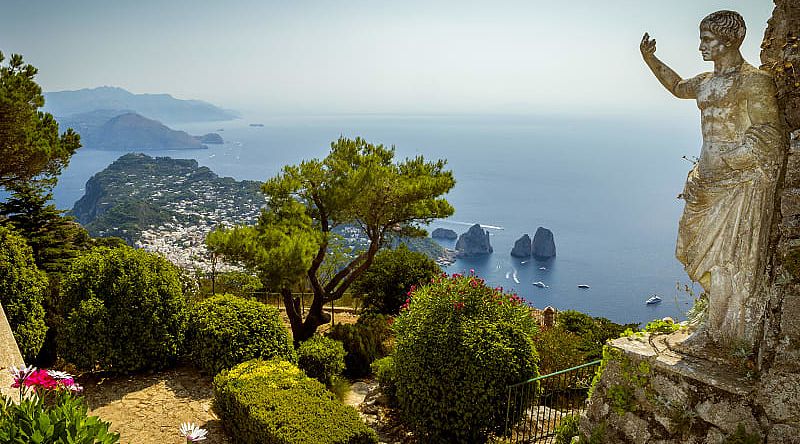
[[[76,259],[62,282],[67,319],[59,349],[84,369],[163,368],[183,341],[178,270],[133,248],[98,248]]]

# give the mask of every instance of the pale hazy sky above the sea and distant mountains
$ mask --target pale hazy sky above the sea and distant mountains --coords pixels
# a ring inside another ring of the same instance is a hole
[[[684,77],[706,14],[744,15],[758,65],[769,0],[2,0],[0,50],[45,90],[121,86],[245,112],[665,113],[644,31]]]

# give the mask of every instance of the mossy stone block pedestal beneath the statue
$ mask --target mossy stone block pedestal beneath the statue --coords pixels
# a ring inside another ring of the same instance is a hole
[[[582,442],[800,444],[800,375],[759,375],[737,350],[675,351],[685,338],[640,334],[607,346]]]

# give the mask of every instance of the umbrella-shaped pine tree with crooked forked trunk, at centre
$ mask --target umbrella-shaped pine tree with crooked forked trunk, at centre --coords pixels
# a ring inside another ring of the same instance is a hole
[[[269,207],[257,225],[222,229],[206,239],[212,252],[240,261],[265,287],[281,292],[295,341],[329,322],[323,306],[340,299],[369,268],[387,233],[420,236],[418,224],[453,213],[441,197],[455,185],[444,160],[395,161],[394,155],[394,148],[340,138],[324,159],[286,166],[264,184]],[[358,230],[367,246],[326,278],[322,267],[333,230],[343,226]],[[292,288],[305,282],[314,300],[304,319]]]

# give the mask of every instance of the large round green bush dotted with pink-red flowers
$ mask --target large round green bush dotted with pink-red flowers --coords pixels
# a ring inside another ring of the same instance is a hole
[[[401,414],[425,442],[485,442],[505,425],[506,386],[538,373],[530,308],[475,276],[416,289],[393,328]]]

